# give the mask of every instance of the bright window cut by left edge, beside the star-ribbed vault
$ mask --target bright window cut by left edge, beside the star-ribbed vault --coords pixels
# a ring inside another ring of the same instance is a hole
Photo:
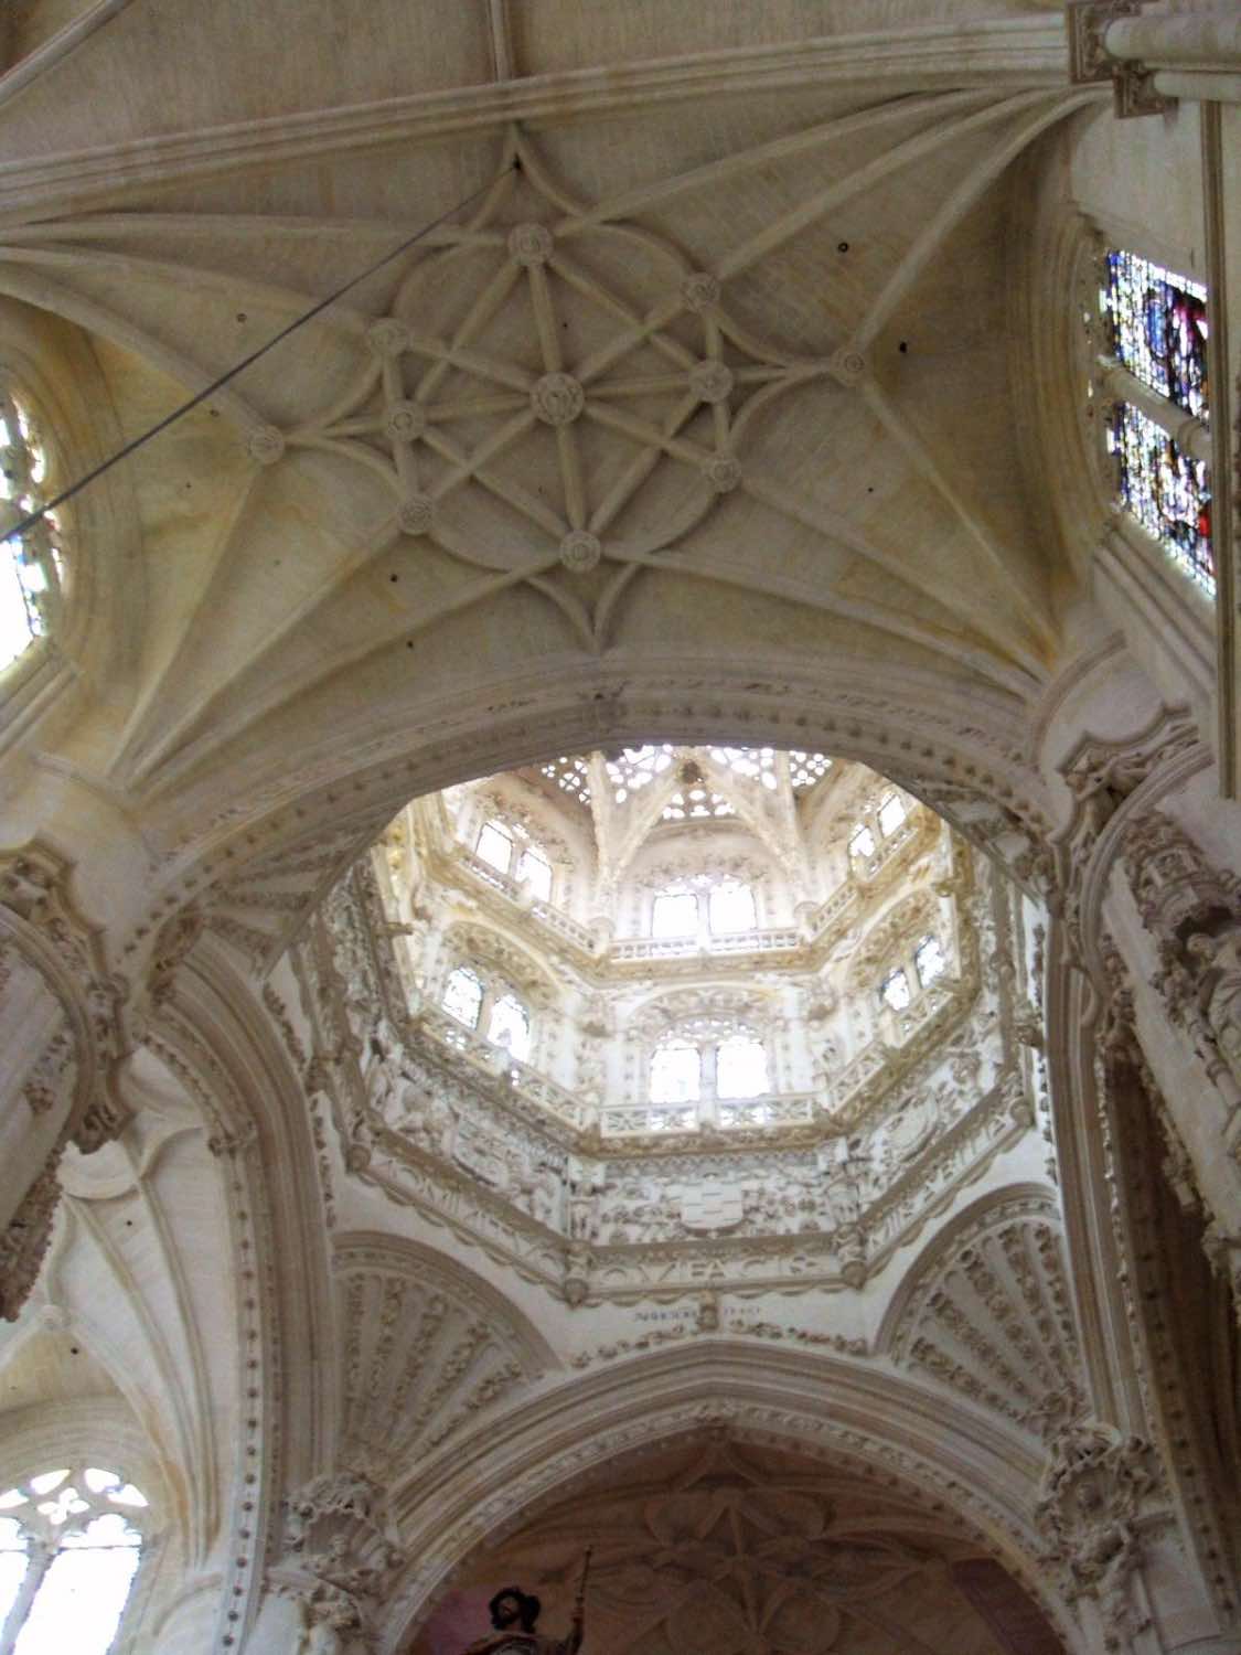
[[[36,511],[48,498],[48,457],[28,409],[0,384],[0,523]],[[48,513],[0,556],[0,667],[51,626],[61,589],[60,523]]]

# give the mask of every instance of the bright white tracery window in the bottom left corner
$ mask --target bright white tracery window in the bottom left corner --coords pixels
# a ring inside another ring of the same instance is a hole
[[[61,1466],[0,1493],[3,1655],[106,1655],[141,1562],[146,1511],[146,1496],[103,1466]]]

